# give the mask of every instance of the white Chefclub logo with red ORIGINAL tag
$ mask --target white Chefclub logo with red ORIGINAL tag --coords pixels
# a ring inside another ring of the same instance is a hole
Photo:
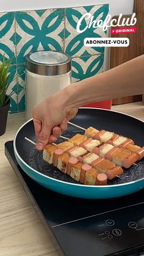
[[[135,17],[135,13],[132,14],[131,18],[124,18],[123,14],[121,13],[118,16],[118,19],[113,18],[110,14],[106,16],[106,19],[103,20],[94,20],[94,16],[91,15],[91,13],[85,13],[84,15],[81,16],[79,19],[76,30],[79,33],[82,33],[86,31],[87,29],[90,29],[90,27],[93,27],[94,29],[101,27],[103,31],[107,31],[108,27],[111,27],[111,34],[120,34],[120,33],[135,33],[137,32],[137,28],[133,27],[137,23],[137,18]],[[88,24],[85,27],[82,27],[82,21],[83,20],[88,20]],[[114,27],[120,27],[119,28],[114,28]],[[123,27],[128,27],[128,28],[123,28]]]

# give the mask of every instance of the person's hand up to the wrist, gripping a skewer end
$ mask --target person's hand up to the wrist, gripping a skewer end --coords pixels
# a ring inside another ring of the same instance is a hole
[[[37,150],[43,150],[48,142],[55,142],[67,130],[68,120],[73,119],[77,111],[77,108],[67,106],[60,92],[35,106],[33,121]]]

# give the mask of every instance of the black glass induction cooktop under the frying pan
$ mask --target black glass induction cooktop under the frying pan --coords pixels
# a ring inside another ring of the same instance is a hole
[[[144,254],[144,190],[106,200],[63,196],[24,173],[16,162],[13,141],[6,142],[5,155],[60,255]]]

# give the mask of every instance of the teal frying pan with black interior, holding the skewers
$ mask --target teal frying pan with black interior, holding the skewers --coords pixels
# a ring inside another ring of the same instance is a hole
[[[144,145],[144,122],[130,115],[106,109],[80,108],[76,117],[71,122],[88,128],[93,126],[98,130],[114,131],[115,133],[129,137],[136,145]],[[84,131],[69,125],[63,133],[65,137],[72,137],[76,133],[84,134]],[[120,178],[108,181],[106,186],[88,186],[73,180],[67,174],[63,174],[56,167],[46,163],[42,158],[42,152],[35,150],[34,145],[27,142],[24,137],[35,141],[34,124],[32,120],[24,123],[16,133],[14,139],[14,152],[18,164],[29,177],[48,189],[65,194],[67,196],[85,199],[107,199],[120,197],[144,188],[144,159],[138,166],[124,169]],[[57,142],[62,142],[59,139]]]

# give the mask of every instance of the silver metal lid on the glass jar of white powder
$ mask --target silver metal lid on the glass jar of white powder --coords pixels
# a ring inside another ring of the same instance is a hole
[[[71,71],[71,57],[58,51],[36,51],[27,54],[26,69],[44,76],[63,75]]]

